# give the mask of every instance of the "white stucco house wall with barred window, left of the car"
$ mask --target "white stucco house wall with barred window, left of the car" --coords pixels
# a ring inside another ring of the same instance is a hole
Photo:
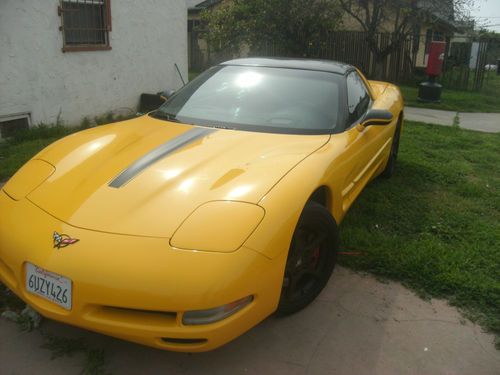
[[[0,130],[134,112],[187,77],[179,0],[0,0]]]

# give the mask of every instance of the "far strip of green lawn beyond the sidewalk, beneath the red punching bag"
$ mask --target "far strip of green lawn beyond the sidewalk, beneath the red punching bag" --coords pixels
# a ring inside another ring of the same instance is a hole
[[[448,90],[443,87],[441,103],[417,101],[418,86],[400,86],[405,104],[411,107],[442,109],[456,112],[500,112],[500,76],[487,72],[480,92]]]

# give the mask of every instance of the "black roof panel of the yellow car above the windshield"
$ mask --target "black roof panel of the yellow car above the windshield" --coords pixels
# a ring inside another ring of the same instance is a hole
[[[338,74],[346,74],[347,72],[354,70],[354,67],[352,65],[344,64],[338,61],[295,58],[244,58],[225,61],[220,65],[262,66],[270,68],[316,70]]]

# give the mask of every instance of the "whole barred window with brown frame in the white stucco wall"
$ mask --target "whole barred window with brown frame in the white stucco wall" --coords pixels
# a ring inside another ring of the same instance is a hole
[[[63,52],[109,50],[111,0],[61,0]]]

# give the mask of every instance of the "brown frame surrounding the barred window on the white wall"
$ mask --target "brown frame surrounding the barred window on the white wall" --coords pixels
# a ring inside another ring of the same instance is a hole
[[[111,22],[111,0],[102,0],[104,5],[104,17],[103,17],[103,31],[105,43],[103,44],[66,44],[66,35],[64,28],[64,13],[69,12],[69,9],[64,8],[65,2],[75,2],[81,4],[88,4],[86,1],[80,2],[79,0],[60,0],[57,6],[57,14],[61,19],[61,25],[59,26],[59,31],[62,33],[63,47],[62,52],[86,52],[86,51],[109,51],[111,50],[110,44],[110,32],[112,31]]]

